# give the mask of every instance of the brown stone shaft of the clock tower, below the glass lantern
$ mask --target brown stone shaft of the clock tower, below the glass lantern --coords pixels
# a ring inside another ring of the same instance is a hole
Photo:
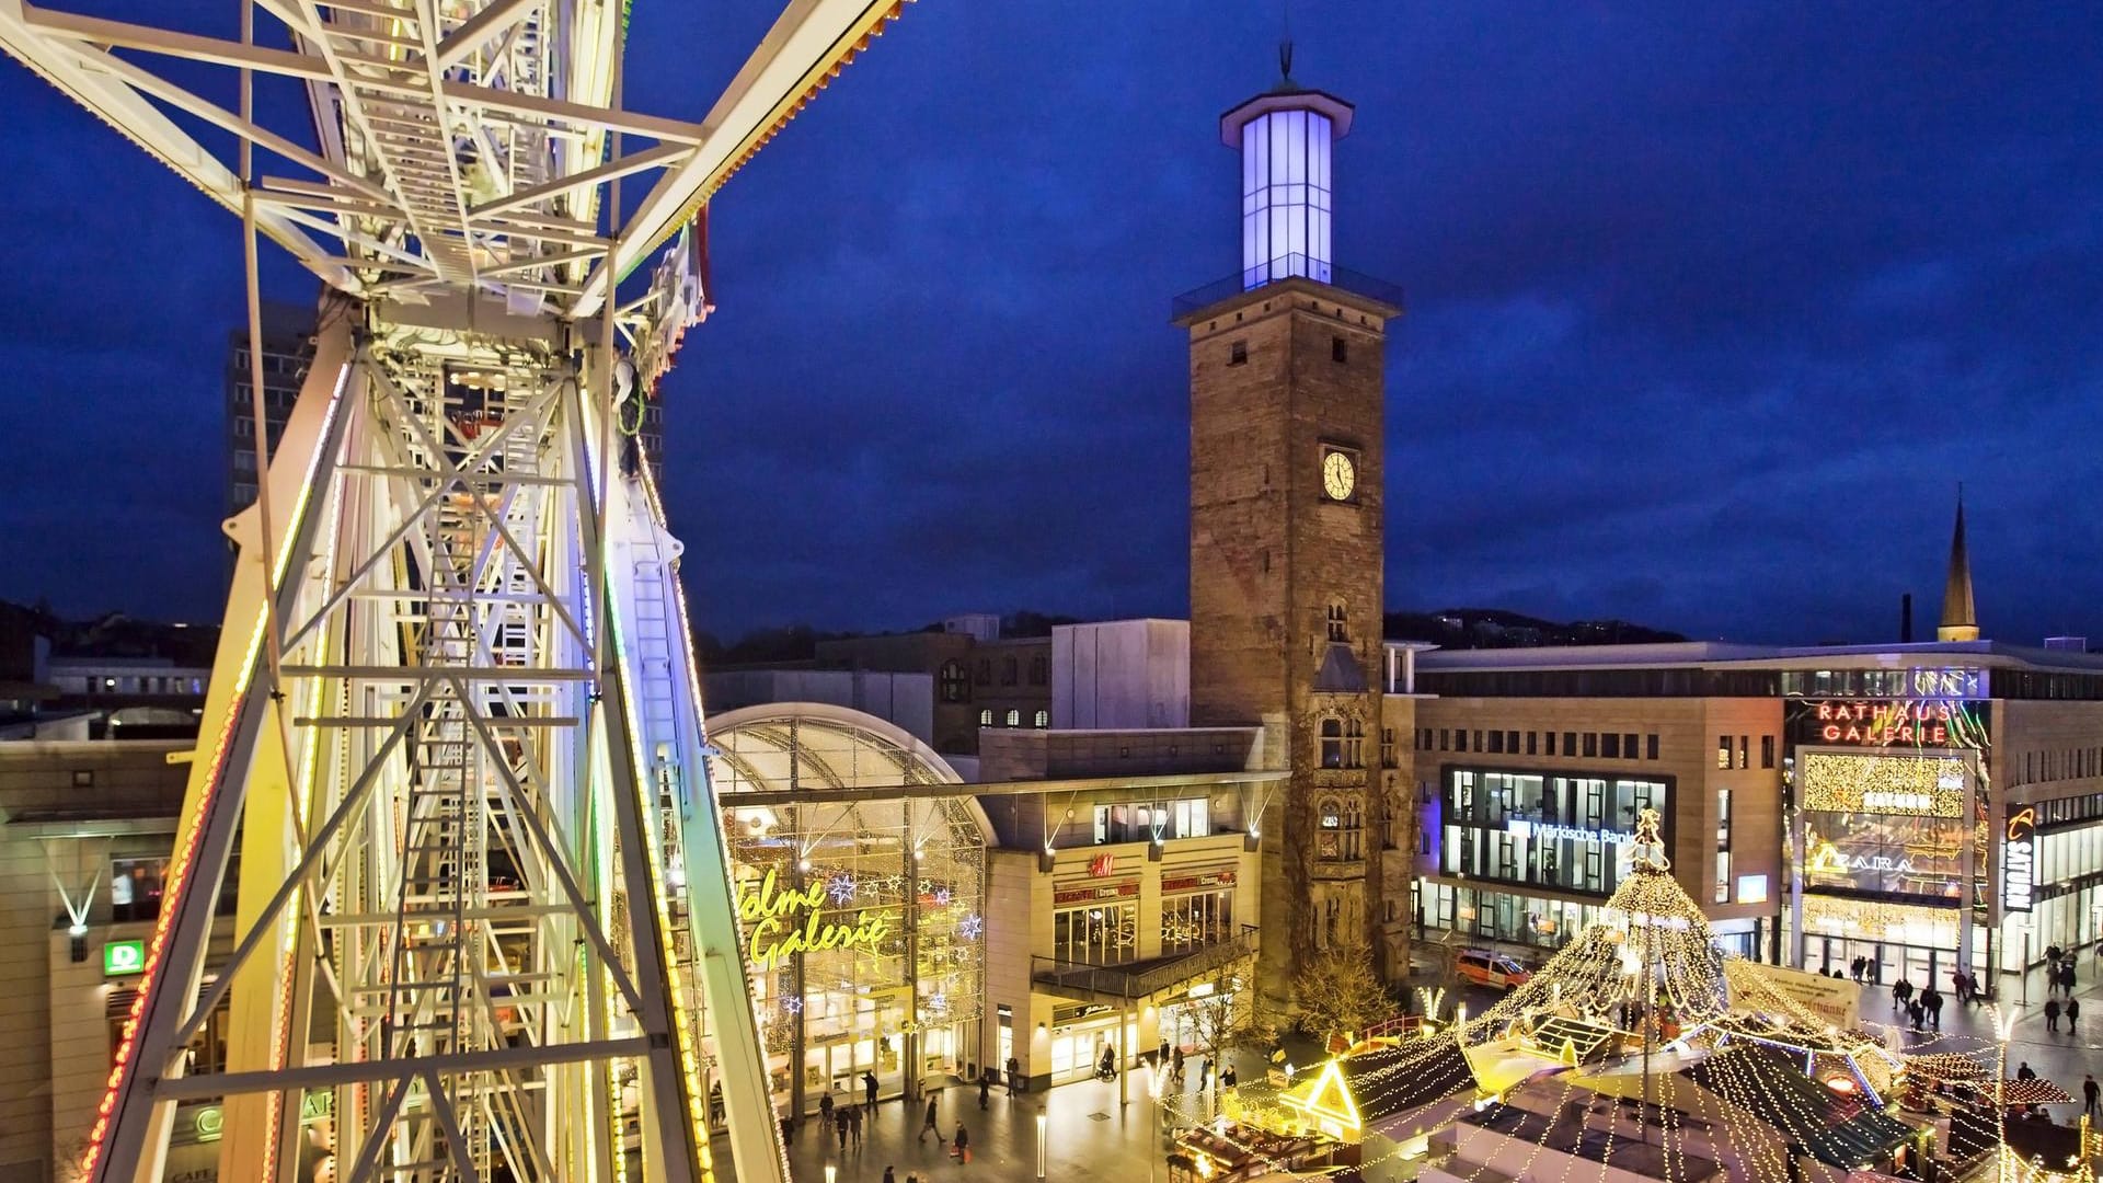
[[[1382,730],[1384,343],[1396,309],[1304,278],[1190,333],[1190,724],[1266,728],[1291,768],[1262,823],[1260,973],[1371,941]],[[1344,453],[1354,484],[1329,497]],[[1331,735],[1325,737],[1325,728]]]

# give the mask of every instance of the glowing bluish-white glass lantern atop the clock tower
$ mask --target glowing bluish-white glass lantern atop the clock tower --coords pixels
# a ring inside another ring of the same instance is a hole
[[[1241,286],[1287,276],[1329,282],[1329,145],[1350,133],[1352,105],[1283,78],[1220,116],[1220,139],[1241,149]]]

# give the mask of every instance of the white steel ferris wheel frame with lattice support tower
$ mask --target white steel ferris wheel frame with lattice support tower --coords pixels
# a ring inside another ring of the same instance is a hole
[[[713,1078],[738,1177],[784,1183],[679,545],[614,377],[707,293],[616,290],[900,4],[791,0],[692,124],[620,109],[620,0],[244,0],[240,42],[0,0],[0,48],[244,217],[250,303],[257,236],[336,293],[229,522],[166,905],[61,1172],[158,1179],[217,1099],[223,1179],[700,1183]],[[238,69],[240,109],[162,59]],[[305,84],[313,147],[254,120],[259,74]],[[189,1074],[219,1006],[223,1071]]]

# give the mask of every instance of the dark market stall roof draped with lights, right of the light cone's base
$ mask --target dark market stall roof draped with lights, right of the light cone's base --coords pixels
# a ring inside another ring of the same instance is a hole
[[[1842,1170],[1874,1162],[1918,1132],[1882,1109],[1825,1088],[1804,1076],[1802,1065],[1756,1044],[1722,1048],[1682,1076]]]

